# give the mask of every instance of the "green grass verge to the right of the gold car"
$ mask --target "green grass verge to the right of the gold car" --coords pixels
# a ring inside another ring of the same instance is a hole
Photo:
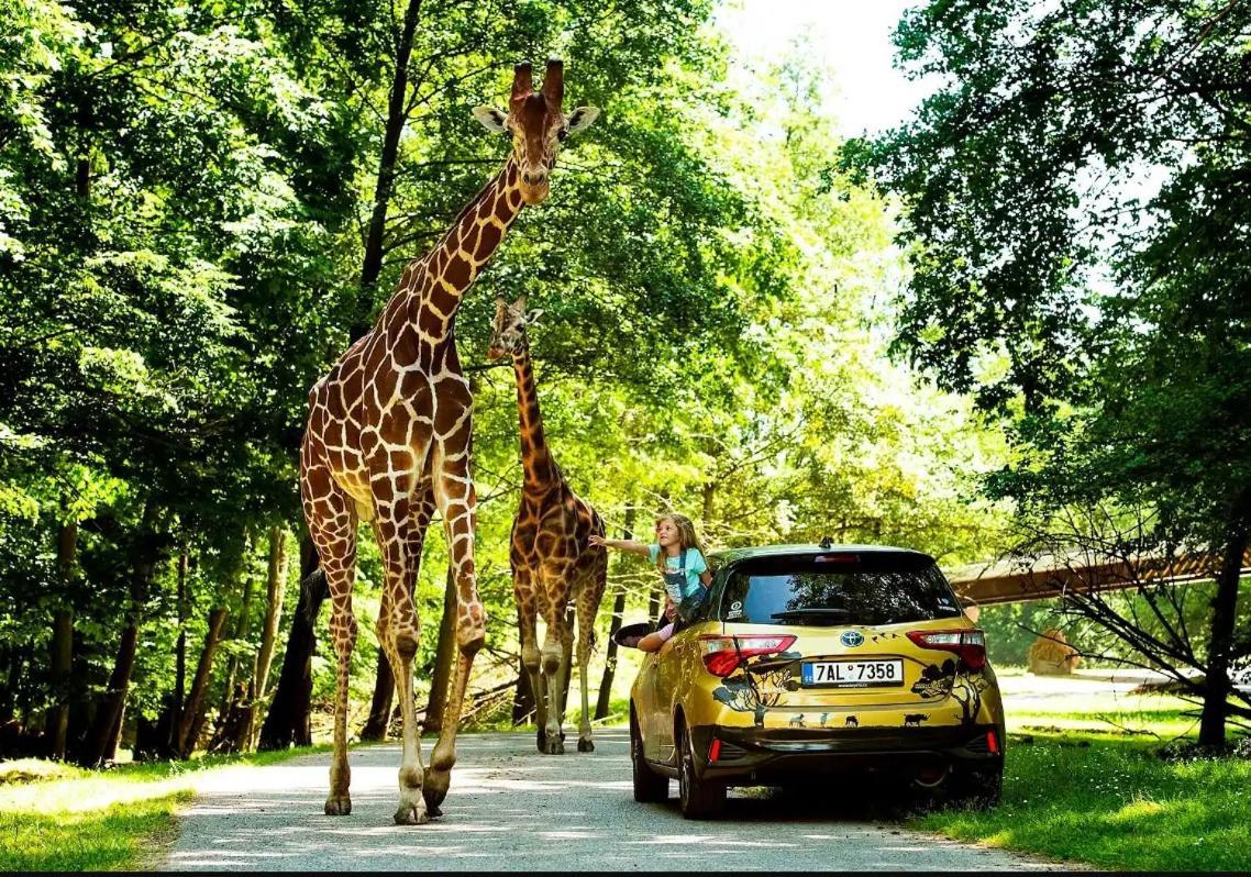
[[[1251,871],[1251,761],[1156,754],[1193,729],[1188,707],[1151,696],[1025,707],[1008,712],[1003,803],[917,828],[1106,868]]]

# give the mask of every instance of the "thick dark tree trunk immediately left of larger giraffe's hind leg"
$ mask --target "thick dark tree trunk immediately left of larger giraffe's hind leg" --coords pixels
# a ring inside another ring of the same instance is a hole
[[[317,651],[315,624],[327,596],[325,574],[318,568],[317,548],[305,534],[300,539],[300,599],[291,618],[291,632],[286,639],[274,701],[260,727],[260,749],[285,749],[313,743],[309,711],[313,699],[313,653]]]

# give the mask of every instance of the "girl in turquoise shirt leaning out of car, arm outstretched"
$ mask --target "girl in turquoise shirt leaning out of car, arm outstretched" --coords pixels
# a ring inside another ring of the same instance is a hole
[[[708,572],[696,527],[684,514],[667,514],[657,519],[656,542],[651,545],[602,535],[592,535],[590,544],[642,554],[656,564],[664,579],[664,617],[669,623],[638,641],[637,647],[644,652],[658,651],[673,636],[674,623],[691,617],[712,584],[712,573]],[[623,644],[631,643],[623,641]]]

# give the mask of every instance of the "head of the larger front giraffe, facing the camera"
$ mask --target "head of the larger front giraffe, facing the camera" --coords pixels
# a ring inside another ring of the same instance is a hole
[[[513,160],[520,173],[522,200],[540,204],[548,194],[548,173],[565,138],[584,131],[599,115],[595,106],[579,106],[564,114],[564,64],[548,61],[543,88],[534,91],[529,64],[513,70],[513,96],[508,113],[493,106],[475,106],[474,119],[488,131],[513,140]]]

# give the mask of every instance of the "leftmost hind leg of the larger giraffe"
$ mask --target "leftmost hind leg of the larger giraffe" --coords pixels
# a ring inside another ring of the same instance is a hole
[[[357,643],[357,619],[352,613],[352,584],[357,572],[357,513],[352,500],[335,485],[325,469],[310,469],[301,479],[304,517],[317,545],[322,572],[330,592],[330,638],[338,658],[334,699],[334,756],[330,761],[330,792],[327,816],[352,812],[348,787],[348,677],[352,649]]]

